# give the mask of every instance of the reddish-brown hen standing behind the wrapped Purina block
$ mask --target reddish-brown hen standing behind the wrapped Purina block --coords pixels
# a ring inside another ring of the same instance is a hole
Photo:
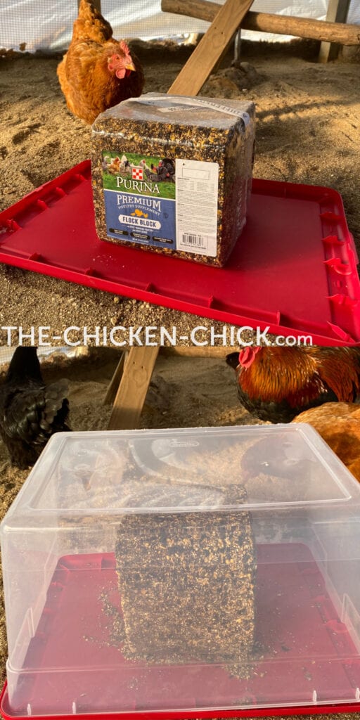
[[[112,27],[93,6],[81,0],[68,52],[58,65],[58,78],[68,109],[85,122],[143,91],[143,68],[124,40],[114,40]]]

